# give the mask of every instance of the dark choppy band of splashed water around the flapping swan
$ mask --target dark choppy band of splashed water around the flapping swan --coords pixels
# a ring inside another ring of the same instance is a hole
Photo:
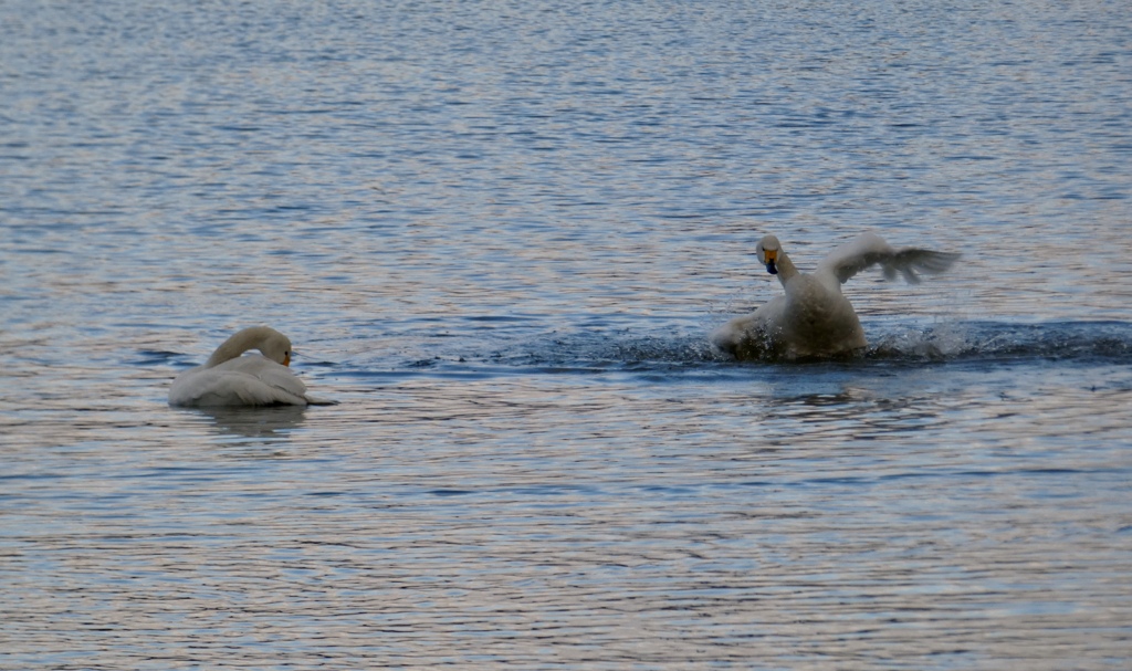
[[[408,358],[391,361],[389,352],[350,363],[310,361],[305,370],[324,369],[360,377],[496,376],[537,373],[629,372],[676,375],[743,371],[751,367],[910,365],[927,363],[995,364],[1001,362],[1064,361],[1081,364],[1132,364],[1132,322],[1055,321],[1009,324],[945,321],[923,324],[873,321],[866,324],[869,346],[839,359],[789,360],[767,353],[739,361],[713,346],[711,325],[669,333],[641,335],[638,328],[593,328],[538,332],[523,328],[484,339],[446,337],[424,341],[428,346],[406,347]],[[405,335],[404,332],[401,335]],[[410,337],[417,345],[418,338]],[[368,353],[369,350],[366,349]],[[166,360],[169,355],[161,354]],[[172,362],[170,360],[170,362]],[[343,364],[345,368],[343,368]],[[349,369],[349,370],[346,370]]]

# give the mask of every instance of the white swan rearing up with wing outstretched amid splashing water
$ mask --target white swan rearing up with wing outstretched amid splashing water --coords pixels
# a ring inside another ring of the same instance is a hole
[[[919,282],[917,272],[942,273],[959,258],[958,253],[929,249],[893,249],[873,233],[834,249],[812,274],[799,273],[773,235],[760,240],[755,251],[766,272],[779,276],[786,293],[712,332],[715,346],[740,359],[831,356],[863,350],[865,332],[841,294],[846,281],[880,265],[886,278],[899,273],[915,284]]]

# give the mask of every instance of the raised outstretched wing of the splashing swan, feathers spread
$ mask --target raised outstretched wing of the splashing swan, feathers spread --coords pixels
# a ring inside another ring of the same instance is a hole
[[[817,273],[831,274],[844,284],[872,266],[881,266],[885,279],[899,273],[909,284],[919,283],[919,273],[936,275],[955,263],[958,253],[907,247],[893,249],[875,233],[865,233],[831,251],[817,264]]]

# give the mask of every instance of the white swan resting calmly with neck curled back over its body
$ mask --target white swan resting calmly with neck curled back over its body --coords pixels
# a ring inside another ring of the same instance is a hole
[[[248,350],[260,354],[241,356]],[[245,328],[224,341],[203,365],[182,371],[169,389],[181,406],[327,405],[307,395],[291,369],[291,341],[267,326]]]

